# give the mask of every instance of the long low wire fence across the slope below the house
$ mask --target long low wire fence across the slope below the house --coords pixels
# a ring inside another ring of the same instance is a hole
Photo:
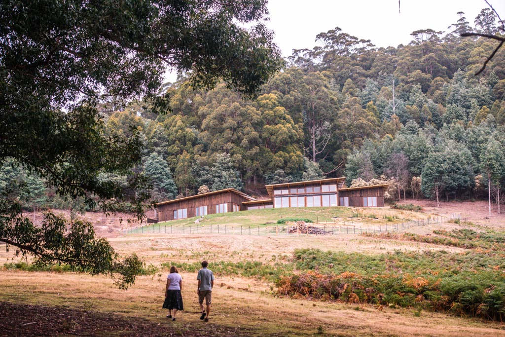
[[[224,235],[256,235],[256,236],[299,236],[299,235],[343,235],[398,232],[412,227],[427,226],[435,223],[456,222],[460,214],[435,216],[419,220],[393,220],[391,223],[362,223],[353,220],[340,220],[324,223],[296,224],[265,224],[265,225],[229,225],[194,223],[173,225],[170,222],[155,223],[148,226],[136,226],[123,230],[125,234],[224,234]]]

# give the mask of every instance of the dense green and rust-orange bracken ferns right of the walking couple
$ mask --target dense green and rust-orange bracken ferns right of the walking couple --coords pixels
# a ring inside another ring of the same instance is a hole
[[[276,280],[277,293],[505,320],[505,233],[471,229],[434,233],[437,236],[383,235],[472,249],[374,256],[297,249],[292,260],[296,272]]]

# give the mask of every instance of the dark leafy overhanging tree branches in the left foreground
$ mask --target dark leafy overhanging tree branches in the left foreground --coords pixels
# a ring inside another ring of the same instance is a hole
[[[142,141],[106,135],[97,104],[142,96],[164,112],[159,94],[166,68],[192,86],[223,79],[254,95],[283,64],[263,20],[266,0],[140,0],[134,2],[0,3],[0,162],[13,158],[55,186],[113,211],[131,202],[142,214],[148,197],[98,179],[100,172],[132,174]],[[250,29],[242,23],[252,23]],[[181,168],[182,169],[182,168]],[[135,176],[131,185],[140,185]],[[115,202],[111,202],[114,200]],[[19,203],[0,198],[0,240],[45,263],[69,263],[91,273],[119,272],[134,280],[140,261],[121,264],[89,223],[48,215],[41,228],[22,216]]]

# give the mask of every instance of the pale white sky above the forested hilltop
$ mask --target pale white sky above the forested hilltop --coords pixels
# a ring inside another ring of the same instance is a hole
[[[505,20],[505,1],[488,2]],[[458,12],[473,27],[480,10],[488,7],[484,0],[400,0],[400,6],[398,13],[397,0],[269,0],[266,25],[288,57],[292,49],[312,49],[317,34],[335,27],[378,47],[397,47],[408,44],[415,30],[447,31],[460,18]]]

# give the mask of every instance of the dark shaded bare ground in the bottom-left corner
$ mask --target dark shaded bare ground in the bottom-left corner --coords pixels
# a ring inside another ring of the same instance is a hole
[[[114,314],[82,311],[62,307],[0,302],[0,335],[57,336],[57,335],[118,335],[118,336],[189,336],[213,334],[244,336],[247,331],[209,324],[208,329],[195,331],[190,324],[172,321],[151,322],[141,318],[127,318]]]

